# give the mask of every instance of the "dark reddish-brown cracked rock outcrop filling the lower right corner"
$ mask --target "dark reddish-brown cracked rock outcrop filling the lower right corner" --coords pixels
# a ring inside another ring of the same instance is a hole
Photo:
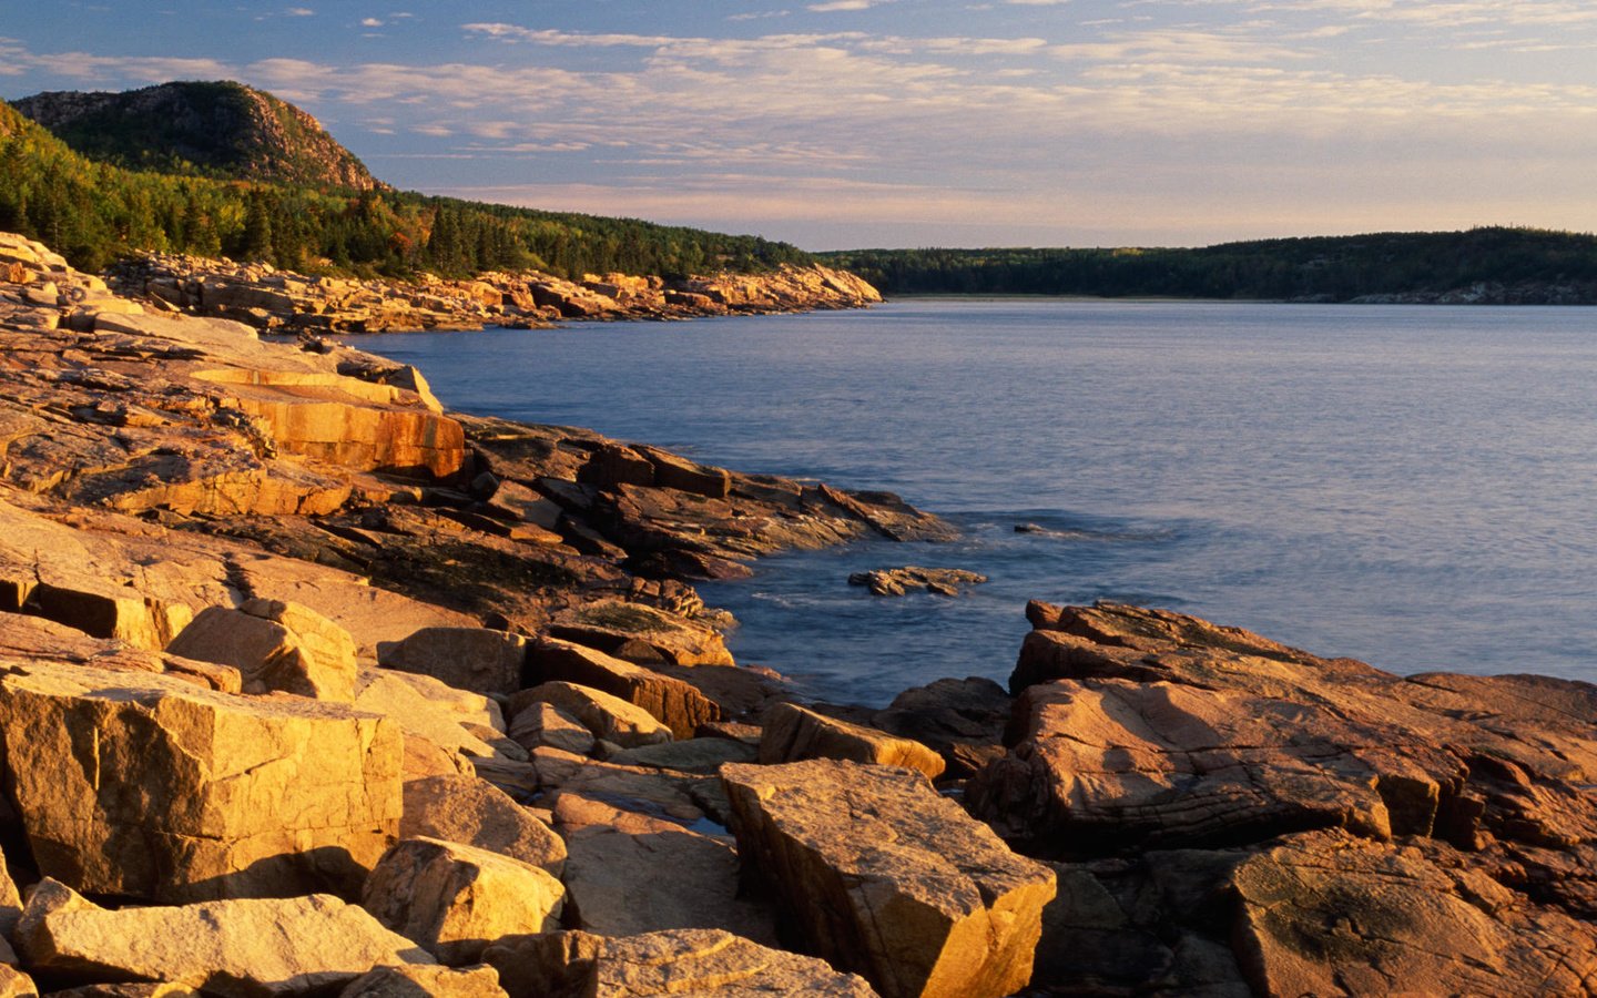
[[[966,800],[1056,861],[1036,984],[1591,992],[1597,688],[1118,604],[1028,616],[1011,750]]]

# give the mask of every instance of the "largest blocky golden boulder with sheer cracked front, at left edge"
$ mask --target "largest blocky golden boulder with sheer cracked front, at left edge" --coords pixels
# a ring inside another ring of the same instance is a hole
[[[399,826],[399,730],[307,699],[34,663],[0,674],[42,873],[155,901],[348,891]]]

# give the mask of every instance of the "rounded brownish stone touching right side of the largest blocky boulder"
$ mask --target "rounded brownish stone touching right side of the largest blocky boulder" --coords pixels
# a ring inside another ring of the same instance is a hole
[[[498,787],[474,776],[431,776],[404,784],[404,838],[442,838],[500,853],[556,877],[565,843]]]

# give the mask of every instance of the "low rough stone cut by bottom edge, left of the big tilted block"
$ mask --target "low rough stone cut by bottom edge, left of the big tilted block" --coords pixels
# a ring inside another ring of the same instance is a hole
[[[484,953],[516,998],[645,998],[652,995],[819,995],[872,998],[862,979],[824,960],[767,948],[717,929],[624,939],[551,933],[505,941]]]

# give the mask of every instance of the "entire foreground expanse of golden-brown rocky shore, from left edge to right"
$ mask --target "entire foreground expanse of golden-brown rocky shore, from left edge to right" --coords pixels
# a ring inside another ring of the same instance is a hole
[[[942,521],[150,279],[0,235],[0,993],[1597,992],[1597,687],[1033,604],[800,704],[693,581]]]

